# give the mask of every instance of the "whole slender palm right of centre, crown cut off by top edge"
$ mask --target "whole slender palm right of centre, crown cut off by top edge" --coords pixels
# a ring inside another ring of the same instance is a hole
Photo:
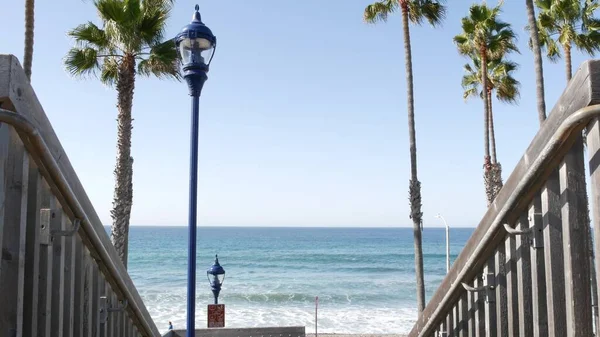
[[[415,109],[413,96],[413,71],[410,47],[409,22],[420,25],[427,20],[438,26],[446,15],[442,0],[381,0],[365,8],[364,20],[368,23],[386,21],[389,14],[400,10],[404,33],[404,62],[406,66],[406,98],[408,101],[408,135],[410,142],[410,218],[413,221],[415,239],[415,273],[417,277],[417,305],[419,313],[425,308],[425,284],[423,280],[423,248],[421,242],[421,183],[417,178],[417,141],[415,136]]]

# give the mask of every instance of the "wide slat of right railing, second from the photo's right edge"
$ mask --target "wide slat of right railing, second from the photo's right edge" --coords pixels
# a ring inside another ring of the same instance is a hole
[[[581,136],[560,165],[567,336],[592,336],[588,225]]]

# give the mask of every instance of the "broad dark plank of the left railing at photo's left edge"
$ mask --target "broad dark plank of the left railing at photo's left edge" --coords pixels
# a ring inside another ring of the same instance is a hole
[[[1,237],[0,259],[0,335],[15,336],[22,328],[17,326],[17,308],[19,302],[19,277],[24,271],[19,267],[22,233],[22,222],[25,221],[27,208],[27,175],[23,174],[23,164],[27,163],[25,148],[17,134],[6,125],[0,126],[0,143],[6,144],[6,161],[4,171],[4,216],[3,235]],[[2,146],[4,147],[4,146]],[[4,151],[4,150],[3,150]]]

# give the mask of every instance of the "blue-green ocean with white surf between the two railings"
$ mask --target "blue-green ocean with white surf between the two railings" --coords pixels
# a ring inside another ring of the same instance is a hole
[[[450,229],[451,261],[472,228]],[[196,327],[213,295],[215,254],[226,271],[226,327],[303,325],[323,333],[408,333],[416,319],[412,228],[198,227]],[[446,274],[445,230],[425,228],[426,298]],[[129,273],[159,330],[185,328],[186,227],[131,227]]]

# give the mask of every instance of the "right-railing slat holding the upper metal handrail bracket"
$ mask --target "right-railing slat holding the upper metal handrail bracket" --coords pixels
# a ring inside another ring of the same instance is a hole
[[[529,206],[529,226],[533,226],[531,257],[531,302],[533,316],[533,336],[548,336],[548,305],[546,302],[546,261],[544,252],[544,224],[542,219],[542,199],[535,197]]]

